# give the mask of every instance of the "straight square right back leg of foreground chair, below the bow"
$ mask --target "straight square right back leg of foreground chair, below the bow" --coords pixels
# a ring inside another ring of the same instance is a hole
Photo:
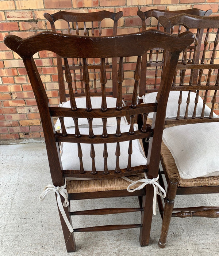
[[[151,222],[153,216],[153,196],[154,189],[153,186],[146,186],[146,195],[143,196],[143,209],[141,223],[142,227],[140,229],[139,242],[141,246],[149,245],[150,239],[150,230],[151,230]]]

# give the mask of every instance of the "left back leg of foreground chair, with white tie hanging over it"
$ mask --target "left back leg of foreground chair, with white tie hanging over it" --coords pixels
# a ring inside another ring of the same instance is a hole
[[[55,197],[56,197],[56,201],[57,201],[57,195],[55,194]],[[62,204],[64,203],[64,198],[61,197],[61,200],[62,200]],[[57,207],[58,207],[58,203],[57,203]],[[69,220],[69,222],[71,223],[72,225],[72,220],[71,218],[69,217],[69,206],[68,207],[63,207],[64,210],[65,210],[65,214]],[[70,233],[63,217],[62,217],[62,214],[61,212],[59,211],[59,208],[58,208],[58,213],[59,213],[59,218],[60,218],[60,221],[61,221],[61,225],[62,225],[62,231],[63,231],[63,235],[64,235],[64,239],[65,239],[65,246],[66,246],[66,250],[67,252],[75,252],[76,251],[76,245],[75,245],[75,240],[74,240],[74,234]]]

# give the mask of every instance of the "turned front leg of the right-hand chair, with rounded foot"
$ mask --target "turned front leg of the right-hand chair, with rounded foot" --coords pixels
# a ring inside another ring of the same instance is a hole
[[[169,230],[170,219],[173,212],[174,199],[176,197],[177,186],[178,186],[178,181],[176,179],[169,180],[167,193],[166,193],[165,206],[164,206],[161,236],[158,242],[158,246],[160,248],[165,248],[166,246],[166,237]]]

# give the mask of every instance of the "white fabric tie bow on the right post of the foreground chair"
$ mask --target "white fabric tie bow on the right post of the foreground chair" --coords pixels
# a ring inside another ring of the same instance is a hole
[[[144,173],[145,174],[145,173]],[[123,178],[124,180],[127,180],[128,182],[131,182],[132,184],[128,185],[127,187],[127,191],[128,192],[134,192],[135,190],[140,190],[142,189],[143,187],[145,187],[146,185],[150,184],[150,185],[153,185],[154,187],[154,197],[153,197],[153,214],[156,215],[156,200],[157,200],[157,197],[156,195],[160,195],[162,197],[166,197],[166,191],[161,187],[161,185],[157,182],[158,178],[159,178],[159,175],[157,176],[157,178],[153,178],[153,179],[149,179],[147,178],[146,174],[145,174],[145,179],[141,179],[141,180],[138,180],[138,181],[132,181],[130,180],[129,178],[127,177],[121,177]],[[135,184],[137,184],[138,182],[142,182],[141,185],[139,185],[138,188],[134,188],[134,189],[130,189],[132,186],[134,186]],[[161,192],[163,193],[160,193],[158,191],[158,189],[160,188]]]

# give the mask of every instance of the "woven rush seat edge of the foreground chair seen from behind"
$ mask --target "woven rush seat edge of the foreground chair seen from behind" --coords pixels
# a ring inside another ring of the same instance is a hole
[[[127,176],[133,181],[138,181],[144,178],[141,176]],[[83,193],[83,192],[95,192],[95,191],[113,191],[127,189],[130,182],[123,178],[112,179],[93,179],[93,180],[70,180],[66,181],[66,189],[68,193]],[[132,186],[132,189],[137,188],[139,184]]]

